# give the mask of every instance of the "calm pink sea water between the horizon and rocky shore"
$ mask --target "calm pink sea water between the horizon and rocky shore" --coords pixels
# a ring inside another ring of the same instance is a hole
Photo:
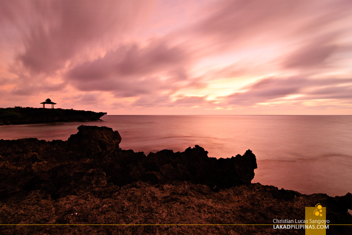
[[[67,140],[84,125],[108,126],[120,147],[145,154],[198,144],[226,158],[247,149],[257,158],[252,182],[330,196],[352,192],[352,116],[107,115],[103,122],[0,126],[0,139]]]

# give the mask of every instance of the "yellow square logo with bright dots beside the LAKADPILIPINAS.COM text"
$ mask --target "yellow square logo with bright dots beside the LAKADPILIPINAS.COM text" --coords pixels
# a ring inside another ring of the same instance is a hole
[[[329,228],[329,220],[326,220],[326,207],[320,203],[314,207],[306,207],[306,235],[325,235]]]

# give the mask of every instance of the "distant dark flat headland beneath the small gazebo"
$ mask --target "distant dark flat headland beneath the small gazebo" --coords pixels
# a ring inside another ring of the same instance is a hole
[[[0,108],[0,125],[97,121],[106,114],[73,109]]]

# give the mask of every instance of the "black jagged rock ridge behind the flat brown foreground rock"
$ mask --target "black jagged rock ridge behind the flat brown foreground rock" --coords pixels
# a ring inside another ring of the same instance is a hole
[[[256,160],[250,150],[243,156],[216,159],[196,145],[184,152],[162,150],[145,156],[120,149],[121,136],[112,128],[81,125],[77,129],[67,141],[0,140],[0,197],[33,190],[44,190],[54,199],[64,197],[72,193],[73,182],[92,169],[102,170],[108,182],[118,187],[138,180],[150,184],[180,180],[219,191],[248,184],[254,177]]]

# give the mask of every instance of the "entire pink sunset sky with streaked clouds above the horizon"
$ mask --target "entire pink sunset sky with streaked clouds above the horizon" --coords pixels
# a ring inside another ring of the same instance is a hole
[[[350,0],[0,0],[0,107],[352,115]]]

